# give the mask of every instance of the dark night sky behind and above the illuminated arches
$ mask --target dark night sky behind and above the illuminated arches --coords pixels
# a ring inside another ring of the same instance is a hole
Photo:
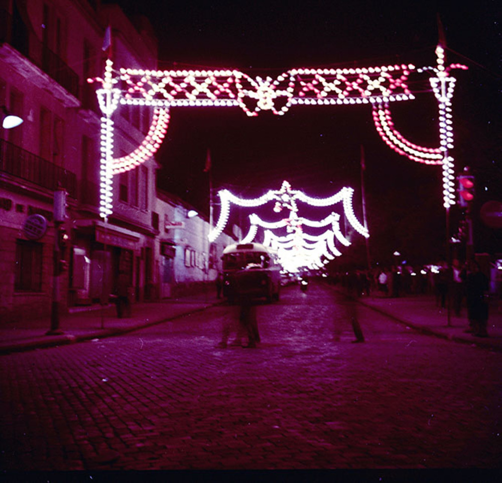
[[[439,13],[448,64],[469,67],[453,74],[456,169],[469,165],[476,175],[475,213],[485,201],[502,201],[499,2],[115,3],[128,15],[149,18],[159,38],[160,68],[233,67],[273,78],[293,67],[434,65]],[[420,91],[415,101],[392,105],[396,128],[416,144],[435,147],[434,95],[424,82],[412,89]],[[281,117],[262,111],[255,118],[239,108],[172,108],[158,185],[208,212],[203,169],[209,148],[215,190],[226,187],[251,198],[287,179],[310,196],[328,196],[349,185],[362,220],[361,145],[373,261],[389,263],[395,250],[412,263],[444,257],[441,168],[392,151],[376,133],[367,105],[293,106]],[[453,208],[452,233],[460,217]],[[475,228],[476,251],[502,252],[500,230],[479,220]]]

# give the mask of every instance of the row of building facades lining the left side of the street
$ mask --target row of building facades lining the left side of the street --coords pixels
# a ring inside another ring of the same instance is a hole
[[[157,196],[154,158],[113,176],[113,214],[99,217],[101,112],[87,79],[102,76],[106,55],[117,67],[155,69],[148,20],[99,0],[5,0],[0,9],[0,106],[24,119],[0,132],[0,320],[47,316],[55,298],[62,311],[105,303],[119,273],[134,301],[214,280],[222,247],[209,247],[207,221],[184,218],[181,200]],[[111,54],[102,50],[108,26]],[[117,109],[115,157],[141,144],[152,114]],[[183,228],[166,224],[176,220]]]

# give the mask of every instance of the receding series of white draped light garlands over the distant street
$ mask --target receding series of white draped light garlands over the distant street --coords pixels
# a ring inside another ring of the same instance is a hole
[[[366,228],[362,226],[354,215],[352,208],[352,195],[354,190],[349,187],[342,188],[337,194],[328,198],[312,198],[304,192],[292,189],[288,181],[284,181],[281,189],[269,190],[265,195],[254,199],[242,199],[222,189],[218,192],[221,200],[221,210],[216,227],[209,234],[209,240],[214,241],[225,229],[230,215],[230,205],[234,204],[243,208],[256,208],[273,203],[273,211],[281,213],[287,210],[286,217],[274,221],[264,221],[256,213],[249,215],[250,227],[241,243],[250,243],[255,240],[259,228],[264,229],[264,242],[266,246],[274,249],[284,269],[295,272],[300,267],[319,268],[326,261],[340,256],[335,240],[344,246],[349,246],[350,241],[340,231],[340,215],[332,212],[322,220],[310,220],[298,216],[298,202],[311,207],[331,207],[341,203],[345,218],[352,228],[364,237],[369,237]],[[319,234],[312,235],[304,227],[327,229]],[[277,235],[277,231],[286,231],[286,235]]]

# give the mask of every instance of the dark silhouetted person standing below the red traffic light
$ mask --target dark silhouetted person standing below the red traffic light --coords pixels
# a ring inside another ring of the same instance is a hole
[[[469,327],[465,332],[476,337],[488,337],[488,277],[479,269],[479,264],[472,260],[465,280],[467,295],[467,317]]]

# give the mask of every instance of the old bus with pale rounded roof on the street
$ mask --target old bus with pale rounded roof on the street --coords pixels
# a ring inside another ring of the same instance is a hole
[[[281,265],[277,255],[261,243],[236,243],[223,250],[223,296],[279,300]]]

